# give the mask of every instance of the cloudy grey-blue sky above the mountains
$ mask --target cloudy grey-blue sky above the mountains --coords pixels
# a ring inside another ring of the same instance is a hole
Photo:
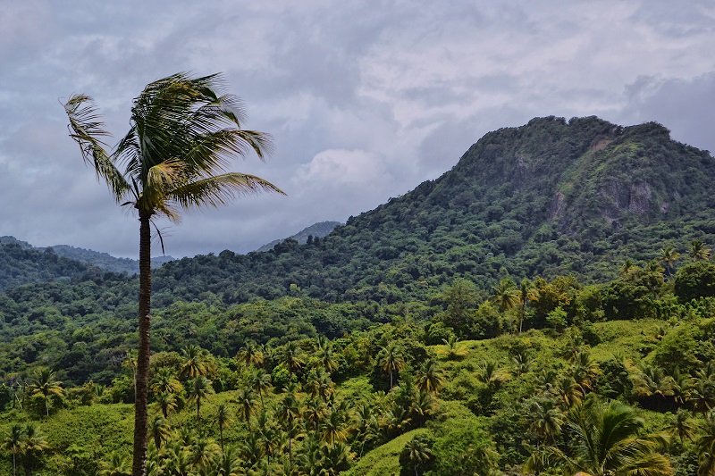
[[[92,96],[114,139],[174,72],[223,72],[274,153],[237,159],[287,196],[158,221],[175,257],[246,253],[346,221],[534,117],[658,121],[715,151],[711,0],[2,0],[0,236],[136,258],[139,222],[68,137]],[[155,255],[161,254],[158,242]]]

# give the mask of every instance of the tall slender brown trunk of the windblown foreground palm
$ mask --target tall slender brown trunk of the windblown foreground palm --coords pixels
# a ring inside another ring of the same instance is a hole
[[[131,476],[147,471],[149,331],[151,329],[151,215],[139,210],[139,352],[134,398],[134,458]]]

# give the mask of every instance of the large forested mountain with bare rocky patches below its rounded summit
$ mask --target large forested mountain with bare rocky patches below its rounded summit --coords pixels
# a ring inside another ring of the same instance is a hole
[[[646,123],[547,117],[491,132],[437,180],[350,217],[323,239],[197,256],[158,271],[156,296],[225,304],[290,293],[328,301],[425,298],[461,277],[618,275],[627,258],[715,241],[715,159]]]

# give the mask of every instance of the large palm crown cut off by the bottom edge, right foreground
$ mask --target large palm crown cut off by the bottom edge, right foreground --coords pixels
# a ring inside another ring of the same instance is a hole
[[[643,427],[633,408],[618,401],[601,405],[589,398],[567,415],[568,450],[539,447],[526,460],[524,471],[561,467],[589,476],[672,476],[668,458],[659,453],[667,440],[662,435],[641,435]]]

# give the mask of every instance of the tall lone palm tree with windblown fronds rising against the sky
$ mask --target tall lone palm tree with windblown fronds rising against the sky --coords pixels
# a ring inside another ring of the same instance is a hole
[[[70,137],[105,180],[117,203],[139,214],[139,351],[132,475],[143,476],[147,459],[147,389],[151,311],[151,225],[156,217],[180,221],[179,210],[218,206],[233,196],[282,193],[256,176],[229,172],[229,159],[254,150],[263,158],[270,136],[241,129],[238,98],[223,94],[222,78],[178,73],[147,85],[134,100],[130,130],[110,153],[108,133],[89,96],[64,104]]]

